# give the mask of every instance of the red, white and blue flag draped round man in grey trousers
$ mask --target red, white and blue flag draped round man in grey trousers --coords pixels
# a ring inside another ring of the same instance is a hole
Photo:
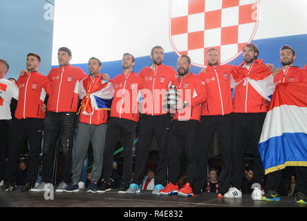
[[[84,115],[93,115],[95,110],[110,110],[114,94],[114,86],[109,81],[104,81],[99,73],[94,78],[86,77],[79,84],[79,98],[82,99],[80,111]],[[79,111],[79,112],[80,112]]]

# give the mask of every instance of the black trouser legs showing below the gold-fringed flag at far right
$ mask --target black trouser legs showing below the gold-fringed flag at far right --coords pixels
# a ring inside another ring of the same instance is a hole
[[[266,175],[266,183],[264,186],[265,191],[277,191],[281,182],[282,170],[268,173]],[[295,166],[295,187],[297,192],[307,195],[307,166]]]

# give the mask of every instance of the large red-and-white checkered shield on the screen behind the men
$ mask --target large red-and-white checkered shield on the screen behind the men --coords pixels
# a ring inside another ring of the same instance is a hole
[[[227,64],[254,38],[258,15],[259,0],[169,0],[169,40],[195,66],[206,65],[209,48]]]

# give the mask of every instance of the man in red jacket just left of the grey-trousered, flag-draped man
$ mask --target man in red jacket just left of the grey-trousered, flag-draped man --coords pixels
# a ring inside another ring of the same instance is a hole
[[[48,75],[51,92],[44,119],[42,182],[30,191],[46,191],[48,189],[53,168],[55,142],[58,136],[63,151],[63,164],[62,182],[56,191],[62,192],[70,182],[78,102],[77,84],[81,79],[87,77],[81,68],[69,64],[71,58],[71,50],[65,47],[59,48],[57,53],[59,67],[51,69]]]

